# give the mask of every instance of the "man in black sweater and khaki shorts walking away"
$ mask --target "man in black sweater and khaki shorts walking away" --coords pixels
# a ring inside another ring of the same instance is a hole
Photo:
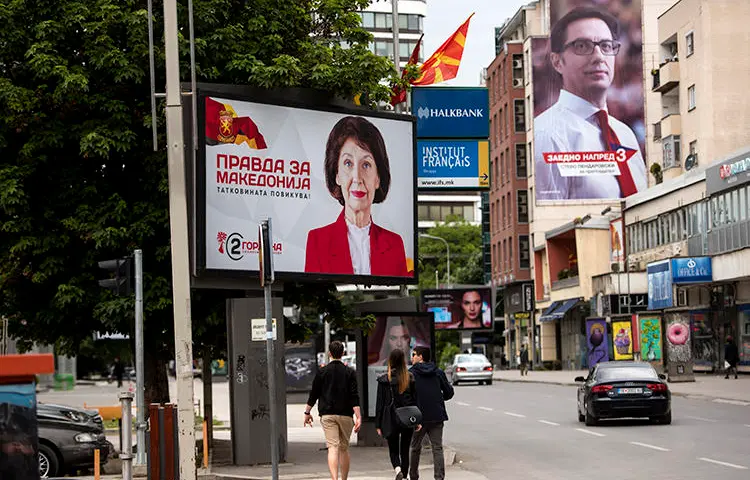
[[[357,391],[357,374],[341,361],[344,355],[344,344],[338,340],[331,342],[328,348],[331,361],[320,369],[313,380],[310,397],[305,406],[305,427],[312,427],[312,408],[318,403],[320,424],[328,446],[328,471],[331,480],[341,480],[349,476],[349,439],[352,430],[359,432],[362,426],[362,413],[359,408]]]

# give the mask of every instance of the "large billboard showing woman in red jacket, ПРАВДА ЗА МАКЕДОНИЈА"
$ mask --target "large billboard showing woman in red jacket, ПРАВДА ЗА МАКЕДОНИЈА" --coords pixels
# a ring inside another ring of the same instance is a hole
[[[201,91],[198,275],[258,272],[271,218],[279,279],[414,283],[414,118],[258,98]]]

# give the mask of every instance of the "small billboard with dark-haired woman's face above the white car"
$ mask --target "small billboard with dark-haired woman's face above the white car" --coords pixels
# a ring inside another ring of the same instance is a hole
[[[492,291],[487,287],[425,290],[422,307],[435,314],[436,330],[492,328]]]

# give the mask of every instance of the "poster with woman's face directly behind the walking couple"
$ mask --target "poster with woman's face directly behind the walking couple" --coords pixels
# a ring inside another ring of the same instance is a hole
[[[367,336],[367,414],[375,416],[377,379],[388,372],[388,356],[401,349],[411,365],[414,347],[429,347],[435,351],[433,316],[425,313],[376,313],[375,328]]]

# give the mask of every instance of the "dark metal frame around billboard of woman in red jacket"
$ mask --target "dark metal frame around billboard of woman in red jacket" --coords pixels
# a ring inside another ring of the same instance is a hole
[[[223,84],[198,84],[195,95],[198,97],[198,150],[195,152],[193,162],[193,228],[191,239],[193,275],[196,278],[223,278],[230,280],[246,281],[248,277],[256,277],[260,274],[258,270],[227,270],[206,268],[206,97],[217,96],[230,100],[242,102],[253,102],[265,105],[276,105],[279,107],[297,108],[319,112],[338,113],[342,115],[357,115],[362,117],[384,118],[388,120],[399,120],[411,122],[414,136],[412,138],[413,164],[413,245],[414,245],[414,276],[413,277],[380,277],[372,275],[339,275],[339,274],[316,274],[305,272],[276,271],[276,278],[281,281],[314,282],[327,281],[334,283],[355,283],[362,285],[404,285],[419,282],[419,271],[416,266],[418,257],[418,220],[417,220],[417,121],[412,115],[379,112],[363,107],[357,107],[341,102],[331,96],[328,92],[320,92],[312,89],[275,89],[265,90],[255,87],[244,87],[239,85]],[[186,124],[186,128],[191,125]],[[186,148],[189,146],[186,145]]]

